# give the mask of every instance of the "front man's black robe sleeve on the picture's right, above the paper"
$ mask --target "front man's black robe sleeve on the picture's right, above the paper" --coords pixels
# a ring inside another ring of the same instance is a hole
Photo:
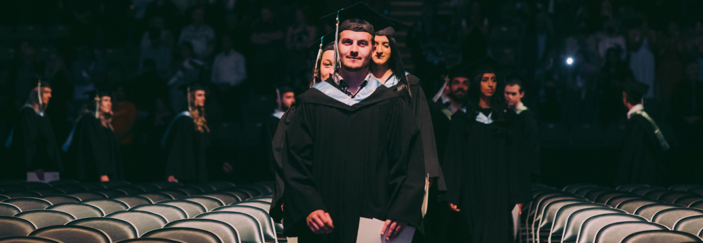
[[[390,161],[389,192],[392,193],[388,206],[387,219],[401,221],[418,227],[422,221],[425,195],[425,163],[423,141],[420,136],[411,107],[401,103],[394,109],[392,151],[399,151]],[[394,147],[397,146],[397,147]]]

